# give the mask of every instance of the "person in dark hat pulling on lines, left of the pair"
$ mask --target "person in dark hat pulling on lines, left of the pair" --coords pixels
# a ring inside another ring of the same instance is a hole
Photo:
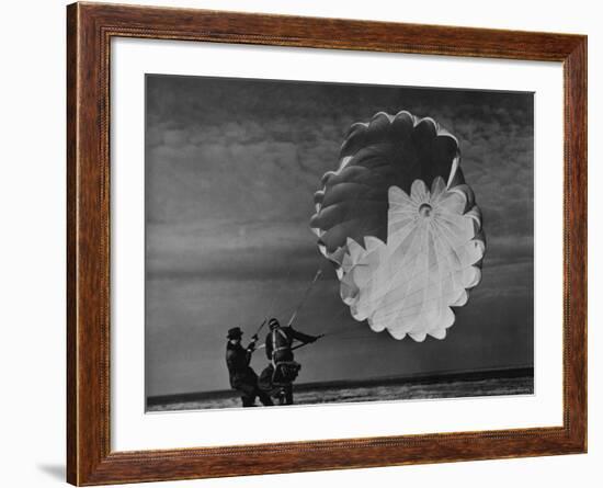
[[[258,336],[251,338],[251,342],[244,349],[241,345],[242,330],[234,327],[228,330],[226,343],[226,365],[230,375],[230,386],[241,393],[243,407],[254,407],[255,397],[265,405],[274,405],[269,395],[258,388],[258,375],[249,365],[251,354],[255,350]]]

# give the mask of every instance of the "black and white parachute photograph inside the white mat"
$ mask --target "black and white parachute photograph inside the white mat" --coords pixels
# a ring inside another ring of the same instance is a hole
[[[145,84],[147,412],[534,394],[534,93]]]

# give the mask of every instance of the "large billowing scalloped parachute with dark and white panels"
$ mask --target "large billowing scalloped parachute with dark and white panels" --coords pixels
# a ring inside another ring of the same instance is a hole
[[[444,339],[451,307],[481,280],[481,213],[457,139],[432,118],[379,112],[353,124],[315,193],[310,227],[354,319],[416,341]]]

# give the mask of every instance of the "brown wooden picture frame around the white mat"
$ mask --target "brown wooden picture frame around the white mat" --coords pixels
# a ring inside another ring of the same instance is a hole
[[[587,451],[587,37],[75,3],[67,9],[67,479],[78,486]],[[113,37],[560,61],[565,78],[564,424],[112,452],[110,42]]]

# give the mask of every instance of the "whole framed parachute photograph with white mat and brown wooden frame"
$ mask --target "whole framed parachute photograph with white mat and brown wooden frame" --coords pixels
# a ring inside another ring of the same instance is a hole
[[[67,33],[69,483],[585,452],[585,36]]]

